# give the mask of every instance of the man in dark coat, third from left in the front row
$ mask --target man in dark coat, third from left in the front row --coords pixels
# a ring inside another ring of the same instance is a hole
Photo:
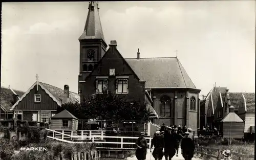
[[[164,157],[165,160],[171,160],[175,155],[175,136],[172,134],[172,127],[167,128],[168,132],[164,133]],[[169,159],[168,159],[169,157]]]

